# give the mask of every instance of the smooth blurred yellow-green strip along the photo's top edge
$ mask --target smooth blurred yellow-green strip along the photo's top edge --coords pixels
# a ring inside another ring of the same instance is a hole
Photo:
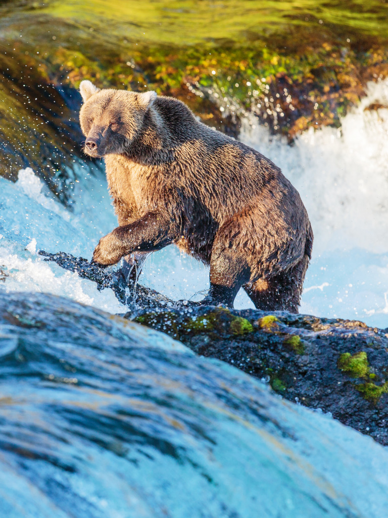
[[[291,39],[287,32],[295,28],[306,38],[312,21],[316,21],[316,34],[310,38],[315,39],[329,32],[327,26],[330,32],[343,33],[347,28],[365,36],[379,32],[384,36],[387,28],[386,6],[379,0],[369,0],[368,7],[362,0],[46,0],[30,3],[30,9],[31,4],[31,14],[40,11],[159,45],[192,45],[209,37],[239,42],[253,34],[283,33]]]

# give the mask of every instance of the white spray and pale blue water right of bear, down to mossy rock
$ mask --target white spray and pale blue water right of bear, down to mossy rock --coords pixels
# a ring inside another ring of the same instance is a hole
[[[368,83],[340,130],[311,128],[290,147],[247,119],[241,139],[282,168],[309,213],[301,312],[388,326],[388,81]]]

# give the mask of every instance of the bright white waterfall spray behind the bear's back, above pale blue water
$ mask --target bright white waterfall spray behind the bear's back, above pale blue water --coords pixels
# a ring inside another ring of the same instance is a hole
[[[388,252],[388,80],[368,83],[366,93],[340,130],[310,128],[291,147],[254,119],[243,121],[241,140],[270,157],[299,190],[314,224],[315,254],[353,247]]]

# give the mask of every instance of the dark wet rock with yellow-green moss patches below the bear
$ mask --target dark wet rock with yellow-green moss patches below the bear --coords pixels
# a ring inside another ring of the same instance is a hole
[[[331,412],[388,444],[388,329],[222,307],[142,310],[128,318],[264,378],[286,399]]]

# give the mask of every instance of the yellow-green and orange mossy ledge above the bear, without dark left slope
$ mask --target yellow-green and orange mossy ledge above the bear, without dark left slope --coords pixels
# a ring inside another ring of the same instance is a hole
[[[172,93],[213,124],[197,86],[292,135],[338,125],[365,80],[388,74],[381,0],[16,0],[0,16],[2,41],[50,81]]]

